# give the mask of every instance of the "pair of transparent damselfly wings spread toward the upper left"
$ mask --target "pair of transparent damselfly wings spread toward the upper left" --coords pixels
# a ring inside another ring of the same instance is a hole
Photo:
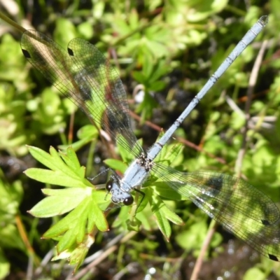
[[[48,36],[27,30],[21,47],[28,61],[114,141],[135,157],[143,151],[132,131],[123,83],[94,45],[74,38],[67,53]]]

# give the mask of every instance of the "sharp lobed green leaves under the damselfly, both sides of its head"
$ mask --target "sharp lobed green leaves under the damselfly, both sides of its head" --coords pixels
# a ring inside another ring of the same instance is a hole
[[[163,157],[169,153],[169,158],[176,158],[176,155],[181,152],[181,148],[168,150],[165,147]],[[27,169],[25,174],[29,178],[42,183],[66,187],[66,189],[58,190],[43,189],[43,194],[47,197],[38,202],[29,213],[38,218],[48,218],[69,212],[58,223],[52,225],[44,233],[43,238],[58,241],[57,258],[55,260],[66,258],[78,269],[93,243],[93,240],[89,242],[88,235],[94,230],[94,227],[103,232],[109,230],[103,211],[109,207],[110,200],[105,200],[106,194],[104,191],[94,190],[92,184],[85,180],[85,168],[80,167],[73,148],[67,148],[66,154],[64,154],[62,152],[57,153],[52,147],[50,153],[45,153],[39,148],[29,146],[29,152],[38,162],[49,168]],[[109,167],[118,169],[116,160],[107,160],[106,163]],[[120,166],[121,164],[122,162],[120,162]],[[171,211],[158,194],[154,192],[154,188],[147,188],[144,197],[140,195],[138,198],[138,205],[136,204],[136,208],[132,210],[133,214],[127,212],[128,207],[123,207],[120,213],[120,217],[123,216],[120,220],[121,223],[115,223],[114,226],[121,227],[123,230],[139,230],[141,220],[143,221],[144,218],[141,211],[146,209],[148,203],[151,209],[146,215],[150,217],[149,219],[155,219],[158,228],[166,239],[169,239],[172,232],[169,221],[177,225],[183,224],[181,218],[174,211]],[[122,214],[122,211],[125,215]],[[77,250],[79,251],[79,257],[77,256]]]

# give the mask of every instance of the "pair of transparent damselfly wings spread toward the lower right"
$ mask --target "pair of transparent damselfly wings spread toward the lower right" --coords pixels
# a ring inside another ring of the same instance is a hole
[[[242,179],[216,172],[183,173],[158,164],[153,170],[256,251],[280,260],[279,209],[260,190]]]

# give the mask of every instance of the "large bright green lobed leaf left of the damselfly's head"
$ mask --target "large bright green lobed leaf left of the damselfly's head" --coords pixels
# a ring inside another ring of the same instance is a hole
[[[67,148],[66,154],[57,153],[52,147],[50,154],[35,147],[29,147],[29,151],[50,170],[27,169],[27,176],[36,181],[68,188],[43,189],[43,194],[47,197],[38,202],[29,213],[38,218],[48,218],[70,212],[52,225],[43,238],[57,240],[57,255],[63,256],[59,258],[69,259],[77,269],[92,244],[92,241],[89,243],[89,235],[94,227],[101,231],[109,229],[103,211],[110,202],[104,200],[103,191],[94,190],[92,184],[85,180],[85,168],[80,167],[73,148]]]

